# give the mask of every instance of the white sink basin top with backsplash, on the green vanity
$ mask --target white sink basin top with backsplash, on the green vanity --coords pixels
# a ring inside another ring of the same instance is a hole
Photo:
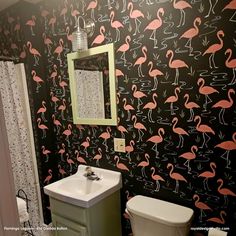
[[[100,178],[89,180],[84,176],[86,165],[79,165],[74,175],[61,179],[44,187],[49,197],[88,208],[122,187],[121,173],[92,167]]]

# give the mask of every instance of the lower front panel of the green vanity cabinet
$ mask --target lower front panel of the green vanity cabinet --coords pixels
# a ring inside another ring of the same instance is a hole
[[[52,215],[53,227],[56,228],[55,236],[88,236],[85,226],[67,220],[61,216]]]

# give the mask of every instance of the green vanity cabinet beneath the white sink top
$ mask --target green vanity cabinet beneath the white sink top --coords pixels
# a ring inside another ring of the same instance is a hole
[[[89,208],[50,197],[54,236],[121,236],[120,193]]]

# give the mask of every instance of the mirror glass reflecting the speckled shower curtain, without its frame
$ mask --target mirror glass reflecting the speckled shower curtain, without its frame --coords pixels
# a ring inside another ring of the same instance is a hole
[[[74,68],[79,116],[110,119],[108,53],[76,59]]]

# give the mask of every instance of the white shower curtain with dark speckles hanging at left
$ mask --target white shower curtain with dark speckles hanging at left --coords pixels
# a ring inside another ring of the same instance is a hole
[[[25,83],[25,84],[24,84]],[[16,193],[23,189],[29,202],[32,228],[42,226],[38,176],[23,64],[0,61],[0,95],[3,102]],[[28,114],[28,115],[27,115]],[[29,122],[30,120],[30,122]],[[33,230],[35,235],[42,232]]]

